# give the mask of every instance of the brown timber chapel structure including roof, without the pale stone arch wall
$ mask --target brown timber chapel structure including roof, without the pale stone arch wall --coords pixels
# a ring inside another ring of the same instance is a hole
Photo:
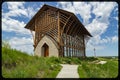
[[[25,28],[35,32],[34,50],[47,35],[58,45],[60,57],[85,57],[85,44],[92,37],[73,13],[46,4],[33,16]]]

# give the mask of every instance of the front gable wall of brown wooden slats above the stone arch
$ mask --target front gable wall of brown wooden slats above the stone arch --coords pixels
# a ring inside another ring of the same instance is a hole
[[[45,34],[52,36],[55,40],[57,39],[57,15],[54,11],[43,11],[35,21],[35,47]]]

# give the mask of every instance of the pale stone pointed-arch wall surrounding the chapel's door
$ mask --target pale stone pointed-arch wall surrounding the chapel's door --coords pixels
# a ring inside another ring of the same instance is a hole
[[[51,37],[49,37],[47,35],[45,35],[39,41],[37,47],[35,48],[35,55],[44,56],[44,51],[42,49],[42,46],[45,43],[49,46],[49,57],[51,57],[51,56],[58,57],[59,56],[59,52],[58,52],[59,47],[58,47],[57,43]]]

